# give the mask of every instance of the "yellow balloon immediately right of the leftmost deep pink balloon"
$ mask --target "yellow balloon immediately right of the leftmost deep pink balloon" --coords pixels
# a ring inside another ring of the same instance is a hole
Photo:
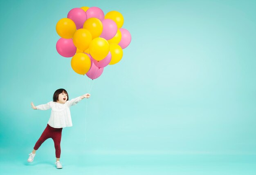
[[[76,48],[81,51],[88,49],[92,35],[87,29],[78,29],[73,35],[73,42]]]

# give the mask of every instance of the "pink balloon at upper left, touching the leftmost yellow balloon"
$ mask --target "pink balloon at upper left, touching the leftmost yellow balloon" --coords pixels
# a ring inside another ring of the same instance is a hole
[[[83,23],[87,20],[87,15],[83,9],[74,8],[67,13],[67,18],[70,18],[76,24],[76,29],[83,28]]]

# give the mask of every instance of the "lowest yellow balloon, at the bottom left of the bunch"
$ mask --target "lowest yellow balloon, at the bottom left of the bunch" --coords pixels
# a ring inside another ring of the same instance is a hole
[[[84,75],[91,67],[91,59],[85,53],[76,53],[71,59],[71,67],[76,73]]]

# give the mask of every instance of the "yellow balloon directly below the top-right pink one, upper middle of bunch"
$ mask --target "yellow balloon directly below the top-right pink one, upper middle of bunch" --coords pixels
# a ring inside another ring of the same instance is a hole
[[[89,18],[83,24],[83,29],[87,29],[92,34],[92,39],[97,38],[103,31],[103,25],[98,18]]]

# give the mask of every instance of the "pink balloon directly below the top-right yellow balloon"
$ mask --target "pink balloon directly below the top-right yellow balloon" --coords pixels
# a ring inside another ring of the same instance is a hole
[[[101,38],[105,38],[106,40],[110,40],[117,34],[117,24],[115,21],[110,19],[105,19],[102,22],[103,31],[100,35]]]

